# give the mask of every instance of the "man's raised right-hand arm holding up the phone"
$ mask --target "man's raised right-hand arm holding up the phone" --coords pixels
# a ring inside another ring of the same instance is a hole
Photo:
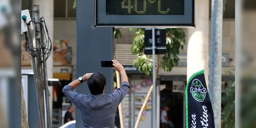
[[[120,72],[121,76],[121,87],[118,88],[115,92],[113,92],[111,95],[116,99],[116,105],[118,106],[121,101],[124,99],[125,95],[129,91],[130,85],[128,82],[128,77],[126,75],[126,72],[124,70],[124,67],[116,60],[113,61],[114,69],[118,72]]]

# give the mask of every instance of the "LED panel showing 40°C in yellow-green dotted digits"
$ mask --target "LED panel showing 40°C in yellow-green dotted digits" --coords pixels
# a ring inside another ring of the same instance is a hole
[[[185,0],[106,0],[106,15],[184,15]]]

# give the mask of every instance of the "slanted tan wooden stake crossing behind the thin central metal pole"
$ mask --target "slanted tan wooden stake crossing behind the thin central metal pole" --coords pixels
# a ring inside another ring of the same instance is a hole
[[[158,65],[159,65],[159,55],[157,55],[157,63],[156,63],[156,73],[155,73],[155,78],[157,79],[157,72],[158,72]],[[138,128],[139,127],[139,123],[140,123],[140,119],[141,119],[141,115],[142,115],[142,112],[144,111],[144,109],[145,109],[145,106],[146,106],[146,104],[147,104],[147,101],[148,101],[148,99],[150,98],[150,95],[151,95],[151,93],[152,93],[152,91],[153,91],[153,84],[151,85],[151,87],[150,87],[150,89],[149,89],[149,91],[148,91],[148,93],[147,93],[147,96],[146,96],[146,98],[145,98],[145,101],[143,102],[143,104],[142,104],[142,106],[141,106],[141,110],[140,110],[140,112],[139,112],[139,114],[138,114],[138,118],[137,118],[137,120],[136,120],[136,123],[135,123],[135,126],[134,126],[134,128]]]

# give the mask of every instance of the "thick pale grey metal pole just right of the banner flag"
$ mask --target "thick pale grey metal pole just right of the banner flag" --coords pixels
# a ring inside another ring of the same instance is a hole
[[[214,113],[215,128],[221,127],[222,15],[223,0],[212,0],[209,95]]]

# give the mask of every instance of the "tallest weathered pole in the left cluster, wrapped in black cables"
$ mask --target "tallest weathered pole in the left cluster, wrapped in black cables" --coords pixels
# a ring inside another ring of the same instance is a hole
[[[38,105],[39,108],[41,109],[39,116],[40,116],[40,120],[39,120],[39,124],[40,124],[40,128],[45,128],[45,108],[44,108],[44,81],[43,81],[43,71],[42,71],[42,62],[41,62],[41,35],[40,35],[40,17],[39,17],[39,5],[33,5],[33,14],[34,14],[34,21],[36,22],[35,25],[35,40],[36,40],[36,52],[38,53],[38,56],[36,57],[36,70],[34,71],[34,75],[35,73],[37,73],[37,84],[36,89],[37,89],[37,93],[38,93]]]

